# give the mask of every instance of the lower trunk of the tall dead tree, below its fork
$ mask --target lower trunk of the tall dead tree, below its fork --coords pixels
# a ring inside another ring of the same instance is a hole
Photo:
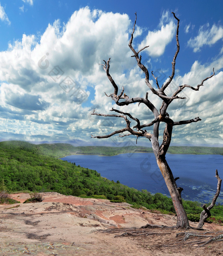
[[[160,168],[160,171],[163,175],[163,178],[166,182],[167,188],[169,190],[171,199],[173,201],[173,206],[176,211],[177,215],[177,228],[188,228],[189,221],[187,214],[183,208],[183,203],[182,203],[182,198],[181,198],[181,191],[183,190],[182,188],[176,186],[176,181],[173,177],[172,171],[169,168],[169,165],[167,164],[166,159],[162,158],[157,158],[157,165]]]

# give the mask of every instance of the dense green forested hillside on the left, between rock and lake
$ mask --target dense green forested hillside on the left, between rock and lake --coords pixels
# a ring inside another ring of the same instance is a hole
[[[104,195],[108,199],[121,195],[127,202],[145,206],[153,201],[146,190],[131,189],[101,177],[95,170],[40,155],[40,150],[41,147],[26,142],[1,142],[0,182],[4,181],[11,192],[44,190],[75,196]]]

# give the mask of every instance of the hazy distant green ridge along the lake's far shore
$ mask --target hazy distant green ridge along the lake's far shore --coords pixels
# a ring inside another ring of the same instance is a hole
[[[25,141],[3,141],[2,146],[15,147],[33,151],[35,153],[61,158],[68,155],[100,155],[114,156],[124,153],[152,153],[152,148],[141,146],[129,147],[106,147],[106,146],[78,146],[71,144],[55,143],[55,144],[31,144]],[[192,147],[192,146],[170,146],[168,149],[170,154],[196,154],[196,155],[223,155],[222,147]]]

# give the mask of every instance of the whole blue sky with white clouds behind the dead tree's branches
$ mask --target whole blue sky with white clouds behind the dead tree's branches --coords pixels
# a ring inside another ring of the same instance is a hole
[[[176,51],[175,12],[180,53],[169,96],[179,85],[196,87],[213,67],[215,76],[199,91],[184,89],[186,99],[169,106],[174,121],[202,119],[175,126],[171,145],[223,146],[223,3],[168,2],[0,0],[0,141],[134,145],[130,136],[90,138],[125,127],[120,120],[90,115],[93,108],[109,114],[114,107],[146,123],[153,119],[145,106],[114,105],[104,94],[112,93],[112,86],[98,64],[111,58],[110,74],[119,88],[131,97],[149,92],[159,109],[162,102],[146,86],[128,42],[137,12],[133,46],[149,45],[142,63],[164,83]],[[138,145],[150,142],[140,138]]]

